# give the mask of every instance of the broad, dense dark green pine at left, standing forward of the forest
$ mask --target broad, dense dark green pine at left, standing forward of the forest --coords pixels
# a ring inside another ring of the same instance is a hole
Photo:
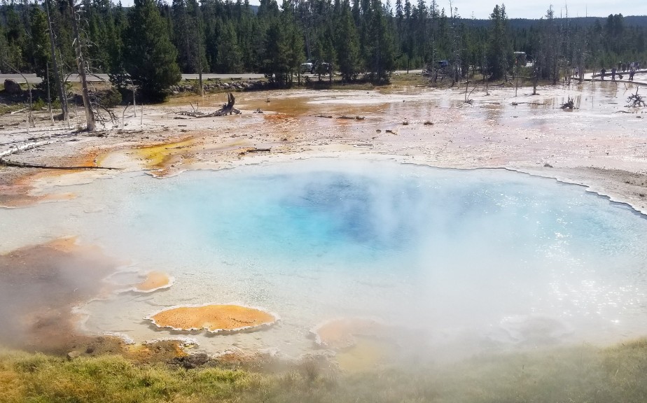
[[[160,101],[180,78],[177,51],[153,0],[134,0],[125,38],[125,69],[146,99]]]

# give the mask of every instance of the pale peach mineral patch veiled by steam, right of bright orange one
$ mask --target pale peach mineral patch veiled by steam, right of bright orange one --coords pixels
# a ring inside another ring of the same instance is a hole
[[[312,332],[317,344],[338,350],[354,346],[356,336],[379,337],[384,330],[384,325],[375,320],[341,318],[319,325]]]

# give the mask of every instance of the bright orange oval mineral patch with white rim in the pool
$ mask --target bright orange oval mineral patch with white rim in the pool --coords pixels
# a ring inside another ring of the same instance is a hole
[[[155,313],[148,319],[158,327],[174,330],[237,332],[254,327],[270,326],[278,318],[272,313],[240,305],[180,306]]]

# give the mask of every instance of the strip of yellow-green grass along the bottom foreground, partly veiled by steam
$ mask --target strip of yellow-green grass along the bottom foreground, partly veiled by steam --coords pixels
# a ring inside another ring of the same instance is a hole
[[[0,402],[646,402],[647,341],[481,355],[343,374],[312,362],[267,374],[0,353]]]

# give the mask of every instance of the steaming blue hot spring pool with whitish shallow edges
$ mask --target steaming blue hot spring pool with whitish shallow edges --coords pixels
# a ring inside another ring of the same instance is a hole
[[[78,234],[168,290],[85,306],[90,332],[175,336],[165,306],[278,313],[262,332],[190,334],[206,351],[311,351],[332,318],[376,318],[416,348],[618,341],[647,334],[647,220],[585,188],[504,170],[317,159],[123,174],[72,201],[0,211],[25,238]]]

